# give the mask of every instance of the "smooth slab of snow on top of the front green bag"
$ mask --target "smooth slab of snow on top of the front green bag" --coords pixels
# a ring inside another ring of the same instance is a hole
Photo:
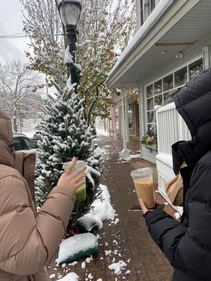
[[[97,249],[99,237],[99,235],[95,236],[92,233],[82,233],[63,240],[59,246],[57,266],[78,253]]]

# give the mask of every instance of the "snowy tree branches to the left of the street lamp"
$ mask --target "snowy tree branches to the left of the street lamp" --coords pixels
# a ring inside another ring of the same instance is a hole
[[[65,44],[62,24],[52,0],[19,0],[24,7],[23,30],[30,37],[29,49],[25,51],[32,70],[47,74],[49,79],[63,86],[67,82],[64,64]],[[49,86],[52,84],[50,80]],[[62,85],[61,85],[62,84]]]

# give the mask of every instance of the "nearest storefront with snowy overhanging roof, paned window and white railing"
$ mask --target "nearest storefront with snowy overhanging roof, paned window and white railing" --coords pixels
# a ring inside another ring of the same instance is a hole
[[[138,88],[140,139],[150,125],[158,150],[141,157],[157,164],[159,191],[174,176],[171,144],[191,136],[173,96],[211,65],[210,0],[136,0],[137,32],[111,70],[109,88]],[[159,109],[160,108],[160,109]]]

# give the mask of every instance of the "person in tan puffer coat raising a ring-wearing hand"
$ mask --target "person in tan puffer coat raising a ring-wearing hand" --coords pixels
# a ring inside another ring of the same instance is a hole
[[[67,227],[76,195],[85,183],[85,167],[62,174],[58,186],[37,213],[34,193],[34,153],[15,153],[12,124],[0,109],[0,280],[47,281],[45,265]],[[81,175],[79,175],[82,172]]]

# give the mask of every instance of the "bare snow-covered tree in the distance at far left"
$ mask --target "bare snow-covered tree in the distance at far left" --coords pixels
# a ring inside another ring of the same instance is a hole
[[[0,107],[9,113],[13,129],[17,131],[19,102],[24,107],[34,109],[42,104],[44,79],[38,72],[28,69],[28,64],[20,60],[0,64]]]

